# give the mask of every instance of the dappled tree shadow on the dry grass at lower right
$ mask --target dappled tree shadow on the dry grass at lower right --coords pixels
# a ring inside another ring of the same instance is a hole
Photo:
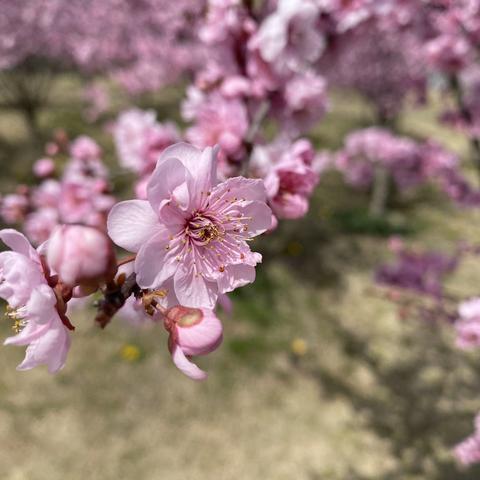
[[[403,360],[388,365],[369,351],[366,339],[338,323],[336,334],[348,359],[344,372],[299,367],[318,383],[322,397],[347,399],[359,422],[388,443],[397,467],[375,480],[480,478],[480,467],[461,471],[452,458],[438,455],[439,445],[451,448],[472,432],[474,411],[466,411],[465,404],[476,399],[480,381],[476,362],[450,349],[436,328],[420,325],[418,335],[403,338]],[[469,381],[461,371],[467,364],[477,372]],[[359,367],[368,370],[374,385],[355,381]]]

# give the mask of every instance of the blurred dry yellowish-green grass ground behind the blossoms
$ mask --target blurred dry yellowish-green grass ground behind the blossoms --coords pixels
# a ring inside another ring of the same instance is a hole
[[[108,136],[81,119],[75,79],[63,81],[56,106],[41,116],[44,134],[58,126],[95,133],[112,162]],[[178,98],[173,90],[153,101],[169,112]],[[403,115],[400,128],[466,155],[461,138],[435,122],[433,104]],[[338,147],[370,121],[363,102],[338,95],[315,144]],[[38,153],[14,113],[0,116],[0,137],[9,148],[0,150],[6,191],[28,178]],[[308,217],[256,243],[264,256],[257,282],[233,295],[222,348],[199,359],[210,373],[205,383],[174,368],[163,328],[115,320],[99,331],[88,311],[73,315],[77,331],[57,376],[16,372],[22,349],[2,348],[0,478],[478,479],[480,470],[459,469],[449,448],[480,410],[479,355],[456,350],[448,327],[400,320],[370,287],[389,256],[386,234],[448,250],[477,240],[479,214],[427,190],[400,199],[377,223],[357,213],[367,205],[365,194],[326,175]],[[463,265],[451,288],[477,293],[477,263]],[[7,321],[0,333],[9,333]],[[303,356],[292,353],[297,338],[306,342]],[[138,358],[122,356],[126,345]]]

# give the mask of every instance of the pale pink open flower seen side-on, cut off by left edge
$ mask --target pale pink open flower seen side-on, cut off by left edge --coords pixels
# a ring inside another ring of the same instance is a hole
[[[65,364],[70,348],[55,292],[47,283],[39,254],[21,233],[5,229],[0,238],[13,250],[0,253],[0,297],[8,302],[7,315],[18,332],[4,343],[28,345],[18,370],[46,364],[55,373]]]

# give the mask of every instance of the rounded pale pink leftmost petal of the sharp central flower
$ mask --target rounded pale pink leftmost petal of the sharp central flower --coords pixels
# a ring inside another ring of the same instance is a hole
[[[108,215],[107,228],[110,238],[130,252],[138,252],[162,230],[156,213],[146,200],[117,203]]]

